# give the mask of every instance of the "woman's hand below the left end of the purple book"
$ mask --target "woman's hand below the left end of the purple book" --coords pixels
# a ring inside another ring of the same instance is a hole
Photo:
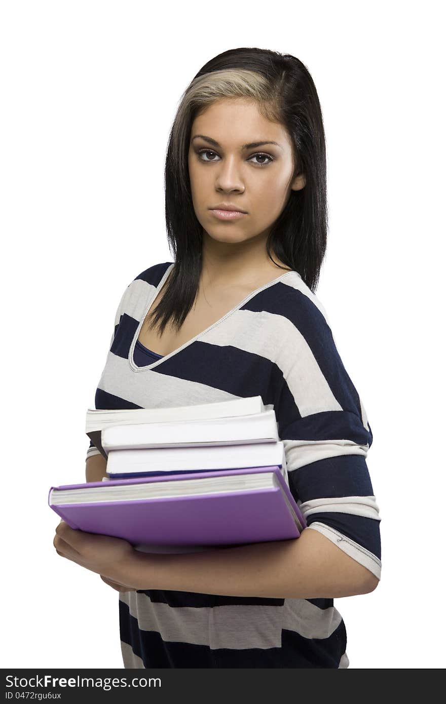
[[[62,558],[77,562],[120,586],[125,586],[125,574],[130,573],[135,559],[135,550],[128,541],[75,530],[63,520],[56,527],[53,545]],[[133,589],[132,585],[128,586]]]

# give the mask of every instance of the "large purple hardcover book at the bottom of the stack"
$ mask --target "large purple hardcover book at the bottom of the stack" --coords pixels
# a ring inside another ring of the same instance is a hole
[[[116,491],[121,496],[112,498]],[[71,528],[123,538],[134,546],[287,540],[306,527],[279,467],[51,486],[48,503]]]

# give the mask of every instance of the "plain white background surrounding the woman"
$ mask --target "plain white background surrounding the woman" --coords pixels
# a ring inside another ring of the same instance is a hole
[[[154,15],[156,8],[157,15]],[[444,56],[440,2],[1,4],[3,667],[122,667],[118,592],[56,554],[125,287],[172,261],[178,101],[221,51],[309,68],[330,232],[316,295],[373,432],[376,591],[335,600],[352,668],[443,667]]]

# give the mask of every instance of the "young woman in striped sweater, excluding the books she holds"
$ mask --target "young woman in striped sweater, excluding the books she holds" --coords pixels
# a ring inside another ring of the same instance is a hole
[[[97,408],[260,395],[275,410],[298,540],[182,554],[56,528],[119,591],[124,667],[348,667],[333,598],[380,579],[372,433],[314,294],[326,249],[321,107],[306,67],[225,51],[182,96],[166,159],[174,261],[130,282]],[[105,476],[90,446],[87,481]]]

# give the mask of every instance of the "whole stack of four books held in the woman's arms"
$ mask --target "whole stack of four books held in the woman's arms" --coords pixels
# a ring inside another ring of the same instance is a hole
[[[306,527],[274,410],[261,396],[88,409],[86,433],[107,460],[107,481],[49,491],[49,505],[73,528],[143,551],[189,551],[297,538]]]

